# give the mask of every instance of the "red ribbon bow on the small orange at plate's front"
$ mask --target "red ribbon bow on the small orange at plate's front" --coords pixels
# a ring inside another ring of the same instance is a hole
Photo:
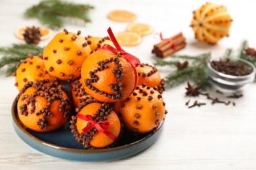
[[[87,133],[87,131],[89,131],[89,130],[93,129],[93,127],[95,127],[99,132],[104,133],[105,135],[110,137],[110,139],[112,139],[113,141],[116,141],[117,137],[115,135],[113,135],[113,133],[111,133],[110,131],[107,131],[108,127],[110,127],[110,122],[108,122],[106,120],[103,120],[100,122],[95,122],[93,120],[93,116],[91,116],[90,114],[83,115],[81,113],[77,113],[76,116],[77,116],[77,118],[81,118],[82,120],[85,120],[85,121],[91,123],[82,129],[83,133]]]

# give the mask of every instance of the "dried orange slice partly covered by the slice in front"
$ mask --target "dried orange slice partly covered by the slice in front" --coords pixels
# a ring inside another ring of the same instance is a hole
[[[148,24],[142,24],[137,22],[131,22],[127,26],[127,31],[133,31],[139,33],[140,35],[149,35],[154,32],[154,27]]]

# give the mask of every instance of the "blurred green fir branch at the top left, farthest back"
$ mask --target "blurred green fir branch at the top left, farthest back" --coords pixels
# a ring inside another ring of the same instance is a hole
[[[64,25],[65,18],[91,22],[88,12],[91,5],[75,4],[60,0],[44,0],[38,5],[27,9],[24,15],[28,18],[37,18],[43,24],[56,29]]]

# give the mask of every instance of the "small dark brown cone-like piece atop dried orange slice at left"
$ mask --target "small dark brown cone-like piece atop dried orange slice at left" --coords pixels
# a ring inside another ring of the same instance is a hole
[[[27,27],[23,37],[28,44],[38,44],[41,38],[39,27]]]

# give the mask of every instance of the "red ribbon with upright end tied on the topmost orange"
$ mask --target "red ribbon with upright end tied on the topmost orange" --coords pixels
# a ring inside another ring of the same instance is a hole
[[[108,31],[108,35],[110,35],[111,41],[113,42],[113,44],[115,45],[116,48],[110,46],[109,44],[104,44],[104,46],[102,46],[102,48],[98,48],[98,50],[104,49],[104,50],[113,52],[114,54],[119,53],[119,54],[121,54],[121,56],[124,56],[129,61],[129,63],[131,63],[131,66],[133,67],[133,71],[135,73],[135,88],[136,88],[136,86],[138,84],[138,74],[137,74],[136,67],[138,67],[140,65],[140,60],[137,57],[123,51],[123,49],[117,42],[116,37],[110,27],[108,28],[107,31]]]

